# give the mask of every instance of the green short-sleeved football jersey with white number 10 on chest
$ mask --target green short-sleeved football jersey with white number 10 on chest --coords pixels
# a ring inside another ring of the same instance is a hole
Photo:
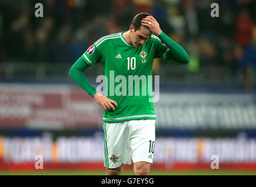
[[[122,33],[125,32],[101,37],[82,56],[88,65],[103,63],[106,96],[118,104],[114,112],[104,111],[103,121],[156,119],[152,102],[153,59],[162,57],[170,62],[170,51],[155,35],[136,48]]]

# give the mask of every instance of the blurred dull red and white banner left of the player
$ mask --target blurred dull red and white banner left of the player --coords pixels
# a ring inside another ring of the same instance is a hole
[[[67,85],[0,85],[0,128],[101,126],[102,112],[86,92]]]

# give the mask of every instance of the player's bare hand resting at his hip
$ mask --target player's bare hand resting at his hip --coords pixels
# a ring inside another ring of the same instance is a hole
[[[114,112],[115,107],[117,107],[117,102],[112,99],[107,98],[106,96],[102,95],[101,93],[95,93],[94,99],[100,105],[106,113]]]

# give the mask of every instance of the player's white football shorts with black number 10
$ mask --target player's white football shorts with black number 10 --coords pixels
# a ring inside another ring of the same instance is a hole
[[[118,168],[122,164],[153,162],[155,149],[155,120],[129,120],[105,123],[104,166]]]

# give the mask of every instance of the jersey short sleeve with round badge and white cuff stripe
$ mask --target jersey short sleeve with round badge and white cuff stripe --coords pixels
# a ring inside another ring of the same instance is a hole
[[[86,61],[88,65],[100,63],[102,57],[100,49],[96,47],[95,44],[88,47],[87,51],[82,55],[83,60]]]

